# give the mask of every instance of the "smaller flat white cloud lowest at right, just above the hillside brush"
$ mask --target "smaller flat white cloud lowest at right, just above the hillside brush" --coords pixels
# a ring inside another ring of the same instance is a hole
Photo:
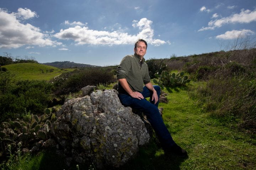
[[[225,32],[225,34],[217,35],[216,38],[224,39],[224,40],[231,40],[231,39],[237,39],[237,38],[244,38],[251,34],[254,34],[254,32],[249,29],[232,30],[232,31]]]

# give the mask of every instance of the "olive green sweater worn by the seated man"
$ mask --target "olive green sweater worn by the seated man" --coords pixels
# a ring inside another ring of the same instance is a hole
[[[117,69],[117,79],[126,79],[128,85],[132,91],[142,92],[144,84],[150,82],[148,65],[145,63],[145,59],[134,53],[134,55],[128,55],[123,58]],[[118,83],[119,94],[126,94],[120,83]]]

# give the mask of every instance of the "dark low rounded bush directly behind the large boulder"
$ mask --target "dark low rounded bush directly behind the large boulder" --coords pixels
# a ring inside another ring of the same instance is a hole
[[[59,83],[59,86],[55,86],[55,94],[63,95],[70,92],[77,92],[82,87],[87,85],[97,86],[98,84],[113,83],[113,72],[106,71],[105,69],[91,68],[85,69],[80,72],[71,74],[68,78],[63,79],[63,82]],[[60,85],[61,84],[61,85]]]

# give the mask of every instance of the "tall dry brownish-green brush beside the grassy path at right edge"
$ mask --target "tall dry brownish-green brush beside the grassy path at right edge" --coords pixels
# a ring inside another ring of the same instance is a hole
[[[256,79],[248,74],[230,72],[228,67],[218,70],[205,86],[190,92],[190,96],[195,96],[204,109],[221,118],[225,124],[256,130]]]

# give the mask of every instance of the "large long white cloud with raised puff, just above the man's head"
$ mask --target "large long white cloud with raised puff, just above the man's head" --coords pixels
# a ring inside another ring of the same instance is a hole
[[[136,35],[129,35],[122,30],[117,31],[98,31],[88,27],[75,26],[68,29],[61,29],[54,36],[63,40],[74,40],[76,45],[91,44],[91,45],[120,45],[133,44],[139,38],[144,39],[148,44],[159,46],[166,42],[160,39],[154,39],[154,30],[151,28],[153,22],[147,18],[142,18],[140,21],[133,21],[132,26],[139,28],[140,32]]]

